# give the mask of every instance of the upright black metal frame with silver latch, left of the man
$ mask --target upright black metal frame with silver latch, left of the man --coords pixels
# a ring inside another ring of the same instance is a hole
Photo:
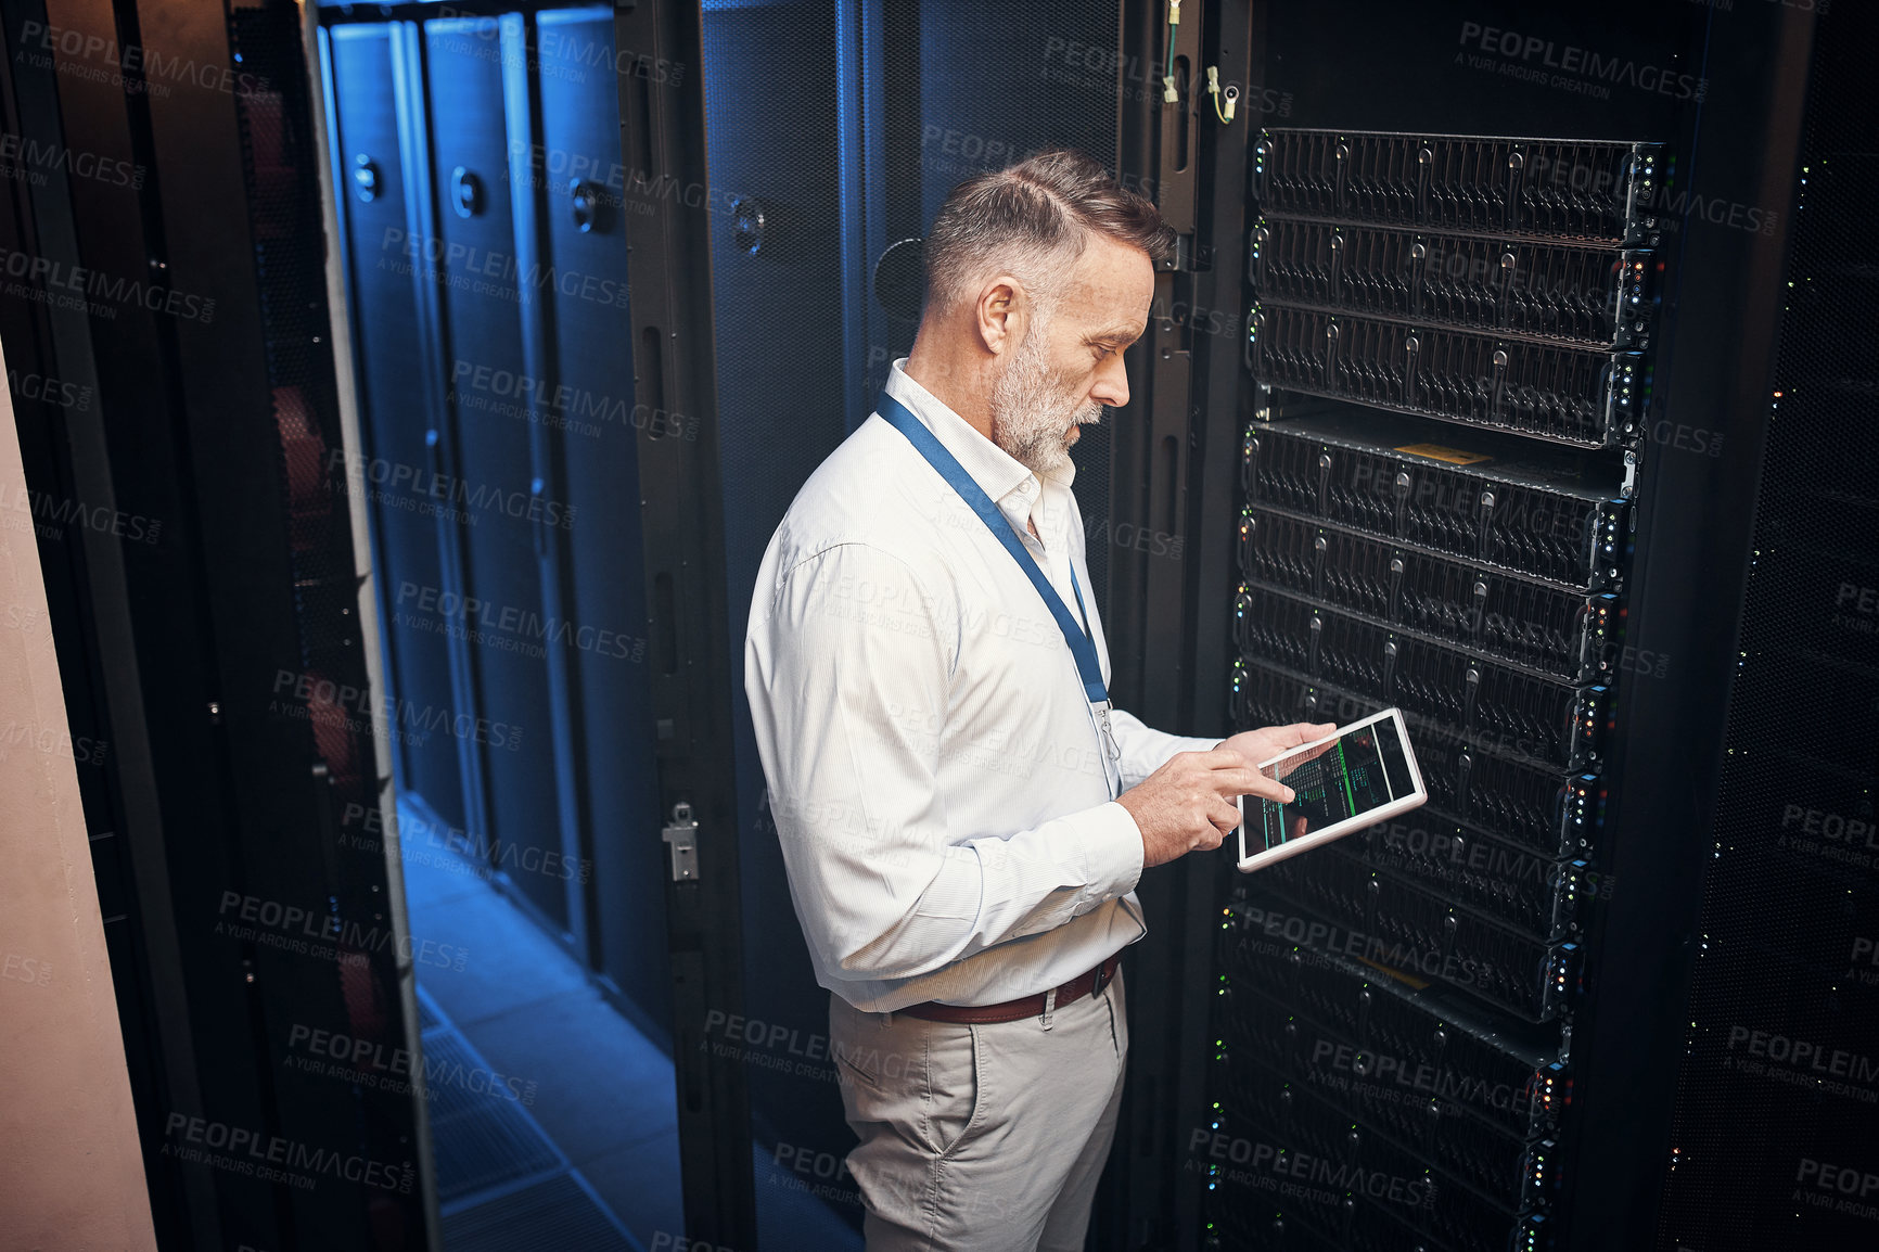
[[[678,4],[616,9],[614,45],[641,53],[641,66],[644,58],[703,66],[701,13]],[[658,90],[644,71],[622,77],[620,154],[633,177],[705,186],[705,143],[703,73]],[[680,201],[660,196],[656,212],[626,216],[635,400],[646,412],[695,417],[699,429],[697,442],[648,440],[639,453],[660,812],[690,805],[699,823],[697,878],[669,882],[665,897],[678,1158],[686,1233],[753,1248],[744,1062],[701,1047],[712,1009],[742,1011],[742,908],[708,218]]]

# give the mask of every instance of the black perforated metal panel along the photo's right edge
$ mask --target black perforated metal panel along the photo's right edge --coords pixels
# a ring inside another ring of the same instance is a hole
[[[1879,15],[1815,32],[1657,1248],[1879,1243]]]

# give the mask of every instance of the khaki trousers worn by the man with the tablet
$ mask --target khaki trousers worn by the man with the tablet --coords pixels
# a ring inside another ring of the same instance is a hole
[[[829,996],[868,1252],[1080,1252],[1129,1055],[1122,972],[1041,1017],[964,1026]]]

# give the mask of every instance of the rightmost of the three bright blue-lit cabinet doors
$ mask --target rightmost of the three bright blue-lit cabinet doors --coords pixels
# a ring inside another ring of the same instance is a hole
[[[569,705],[581,810],[579,882],[592,893],[588,951],[643,1013],[671,1030],[648,692],[639,440],[697,440],[697,419],[633,400],[626,173],[613,9],[537,13],[541,139],[530,182],[545,201],[552,479],[579,524],[562,538],[562,615],[575,624]],[[513,145],[513,141],[511,141]],[[592,870],[588,874],[588,870]]]

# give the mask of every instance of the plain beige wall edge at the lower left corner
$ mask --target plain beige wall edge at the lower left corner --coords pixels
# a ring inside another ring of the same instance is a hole
[[[0,1252],[156,1248],[24,498],[0,387]]]

